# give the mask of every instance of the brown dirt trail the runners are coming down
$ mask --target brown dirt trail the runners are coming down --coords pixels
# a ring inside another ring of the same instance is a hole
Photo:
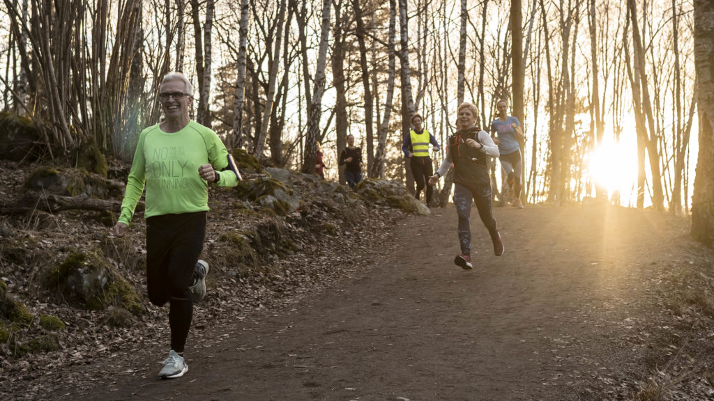
[[[665,313],[655,285],[691,242],[685,220],[595,205],[496,208],[496,218],[500,258],[474,210],[473,270],[453,265],[456,211],[433,209],[394,228],[357,278],[273,315],[198,328],[216,341],[189,338],[180,379],[156,379],[166,350],[147,349],[76,367],[116,374],[54,395],[603,400],[603,388],[625,385],[618,377],[646,377],[644,331]]]

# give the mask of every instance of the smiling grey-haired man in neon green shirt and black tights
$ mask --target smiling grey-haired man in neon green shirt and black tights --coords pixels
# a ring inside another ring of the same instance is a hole
[[[146,288],[157,306],[169,303],[171,350],[162,379],[183,376],[183,360],[193,304],[206,295],[208,263],[198,260],[206,235],[208,183],[236,186],[240,178],[226,146],[210,128],[188,118],[193,88],[182,73],[169,73],[159,86],[166,118],[139,136],[134,162],[114,225],[126,235],[136,204],[146,189]]]

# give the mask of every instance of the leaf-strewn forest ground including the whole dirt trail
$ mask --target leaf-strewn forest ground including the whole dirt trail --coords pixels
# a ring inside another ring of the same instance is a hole
[[[473,210],[474,268],[462,270],[453,205],[426,216],[356,208],[358,222],[334,235],[286,226],[303,250],[266,258],[283,272],[268,286],[228,274],[210,239],[226,222],[209,219],[208,295],[185,376],[157,377],[166,308],[148,306],[125,329],[54,310],[74,322],[71,335],[59,351],[4,355],[0,399],[714,399],[714,251],[690,238],[686,218],[603,204],[495,208],[506,245],[496,257]],[[134,234],[140,248],[140,225]],[[3,269],[11,290],[31,293]]]

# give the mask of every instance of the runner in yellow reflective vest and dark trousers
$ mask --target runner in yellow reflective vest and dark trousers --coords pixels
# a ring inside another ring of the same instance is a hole
[[[411,117],[411,123],[414,129],[409,131],[408,135],[404,136],[402,151],[404,156],[409,158],[411,165],[411,174],[416,182],[416,193],[414,196],[418,199],[421,196],[421,191],[426,186],[429,177],[433,175],[433,164],[429,157],[429,143],[434,147],[434,151],[439,151],[439,144],[429,131],[423,129],[421,123],[423,118],[421,114],[414,113]],[[433,194],[432,186],[426,186],[426,205],[431,203]]]

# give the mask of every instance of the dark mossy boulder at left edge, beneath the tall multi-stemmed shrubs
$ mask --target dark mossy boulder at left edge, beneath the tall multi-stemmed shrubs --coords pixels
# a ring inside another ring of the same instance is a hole
[[[0,158],[10,161],[35,161],[41,154],[42,133],[31,119],[13,113],[0,113]]]

